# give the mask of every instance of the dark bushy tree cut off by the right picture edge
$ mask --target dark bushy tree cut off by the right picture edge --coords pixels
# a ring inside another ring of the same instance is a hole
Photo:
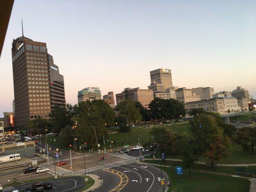
[[[238,129],[235,136],[235,143],[243,147],[244,152],[253,154],[256,147],[256,128],[244,127]]]

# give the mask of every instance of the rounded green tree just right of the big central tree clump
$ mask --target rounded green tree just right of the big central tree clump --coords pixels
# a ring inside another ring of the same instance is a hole
[[[120,131],[128,132],[131,123],[138,122],[142,119],[139,108],[135,107],[135,102],[131,99],[125,99],[116,106],[117,122],[120,126]]]

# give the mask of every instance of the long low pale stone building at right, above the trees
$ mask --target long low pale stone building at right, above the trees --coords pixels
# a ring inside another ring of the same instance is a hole
[[[238,106],[237,99],[234,97],[218,97],[185,103],[185,109],[187,111],[191,108],[204,108],[207,112],[220,114],[241,112],[241,107]]]

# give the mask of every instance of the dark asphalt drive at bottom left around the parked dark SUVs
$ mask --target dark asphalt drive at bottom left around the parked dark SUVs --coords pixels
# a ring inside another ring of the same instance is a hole
[[[85,179],[82,177],[65,177],[48,181],[53,185],[53,189],[47,190],[47,192],[76,192],[85,187]],[[31,188],[32,184],[33,183],[17,185],[8,191],[4,190],[4,192],[12,192],[13,190],[19,190],[19,192],[22,192],[26,188]]]

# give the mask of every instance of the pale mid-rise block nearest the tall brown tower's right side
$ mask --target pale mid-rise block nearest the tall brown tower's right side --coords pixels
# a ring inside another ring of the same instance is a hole
[[[101,99],[99,87],[86,87],[85,89],[78,91],[78,103],[84,101],[92,101]]]

